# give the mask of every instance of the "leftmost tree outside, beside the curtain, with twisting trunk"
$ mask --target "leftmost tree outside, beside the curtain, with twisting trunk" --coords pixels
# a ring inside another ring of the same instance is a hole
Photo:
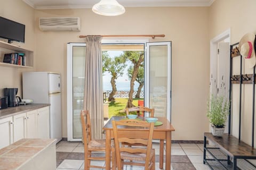
[[[124,69],[126,66],[126,58],[123,55],[115,56],[114,58],[111,58],[109,57],[109,55],[106,55],[106,58],[103,60],[102,68],[104,68],[105,72],[107,71],[111,74],[110,83],[112,91],[109,94],[108,101],[115,101],[114,95],[117,91],[116,79],[124,74]]]

